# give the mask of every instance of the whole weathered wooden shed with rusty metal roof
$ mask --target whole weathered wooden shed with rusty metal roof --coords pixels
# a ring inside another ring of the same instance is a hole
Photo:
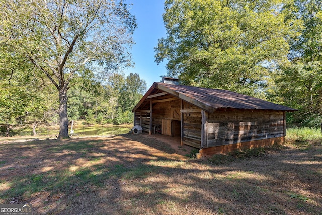
[[[284,141],[285,112],[296,110],[227,90],[155,82],[132,111],[143,132],[180,136],[181,145],[211,155]]]

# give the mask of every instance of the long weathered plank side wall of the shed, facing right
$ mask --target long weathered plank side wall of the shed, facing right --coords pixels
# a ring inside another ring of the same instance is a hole
[[[267,110],[217,110],[208,115],[204,148],[284,136],[284,113]]]

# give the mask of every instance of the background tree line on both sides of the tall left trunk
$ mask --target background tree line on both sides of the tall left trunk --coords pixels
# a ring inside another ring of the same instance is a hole
[[[23,78],[15,73],[15,77],[1,80],[0,132],[3,135],[26,128],[32,128],[36,135],[38,126],[59,124],[56,112],[59,98],[55,89],[39,80],[22,81]],[[113,73],[104,83],[79,81],[69,90],[69,120],[80,120],[84,125],[132,123],[132,109],[145,91],[146,83],[136,73],[128,76]]]

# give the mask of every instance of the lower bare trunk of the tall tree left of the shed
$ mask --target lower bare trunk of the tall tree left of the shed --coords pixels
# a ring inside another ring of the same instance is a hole
[[[59,89],[59,136],[58,139],[69,138],[68,135],[68,117],[67,117],[67,87]]]

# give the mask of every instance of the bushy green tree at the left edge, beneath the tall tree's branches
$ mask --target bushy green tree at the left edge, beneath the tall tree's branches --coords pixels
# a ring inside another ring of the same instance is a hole
[[[42,98],[34,88],[40,80],[27,75],[34,66],[19,54],[7,53],[5,49],[10,47],[0,48],[0,127],[9,136],[12,127],[25,124],[28,113],[35,113]]]

